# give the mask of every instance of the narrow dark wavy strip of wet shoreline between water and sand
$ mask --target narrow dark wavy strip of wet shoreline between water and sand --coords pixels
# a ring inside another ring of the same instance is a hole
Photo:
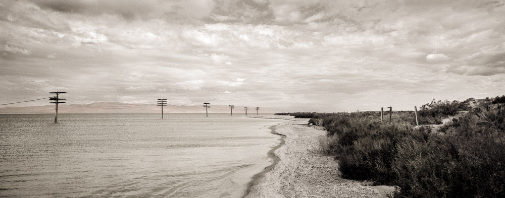
[[[279,119],[279,118],[269,118],[269,119]],[[279,124],[277,124],[277,125],[279,125]],[[268,153],[267,153],[267,156],[268,156],[269,158],[272,158],[274,161],[272,162],[272,164],[270,164],[269,166],[265,167],[265,169],[263,169],[261,172],[256,173],[255,175],[253,175],[253,176],[252,176],[252,179],[251,179],[251,181],[249,181],[249,182],[247,183],[247,189],[245,190],[245,192],[244,192],[244,194],[241,196],[241,198],[246,197],[246,196],[247,196],[247,195],[251,192],[251,188],[252,188],[252,186],[254,186],[254,185],[255,185],[255,183],[257,183],[257,182],[259,181],[259,179],[260,179],[261,177],[263,177],[263,175],[264,175],[265,173],[267,173],[267,172],[271,171],[271,170],[272,170],[272,168],[274,168],[274,166],[275,166],[275,165],[276,165],[276,164],[277,164],[277,163],[281,160],[281,159],[279,158],[279,156],[275,155],[275,151],[276,151],[277,149],[279,149],[282,145],[286,144],[286,140],[285,140],[285,139],[286,139],[286,135],[279,134],[279,133],[277,133],[277,132],[275,131],[275,129],[277,128],[277,125],[272,125],[272,126],[268,127],[268,129],[270,129],[270,133],[271,133],[271,134],[274,134],[274,135],[278,135],[278,136],[280,136],[280,138],[278,139],[278,140],[280,140],[280,143],[279,143],[277,146],[273,147],[273,148],[272,148],[270,151],[268,151]]]

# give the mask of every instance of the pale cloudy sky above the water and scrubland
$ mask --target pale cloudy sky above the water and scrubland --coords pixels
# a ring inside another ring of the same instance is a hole
[[[51,91],[317,111],[495,97],[505,1],[1,1],[0,104]]]

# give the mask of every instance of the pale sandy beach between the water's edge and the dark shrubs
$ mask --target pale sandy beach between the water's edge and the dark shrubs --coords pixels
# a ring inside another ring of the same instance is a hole
[[[272,128],[284,142],[273,149],[273,164],[255,176],[244,197],[384,197],[385,186],[365,186],[340,176],[333,157],[320,152],[318,140],[326,135],[323,128],[308,126],[308,119],[264,118],[290,121]]]

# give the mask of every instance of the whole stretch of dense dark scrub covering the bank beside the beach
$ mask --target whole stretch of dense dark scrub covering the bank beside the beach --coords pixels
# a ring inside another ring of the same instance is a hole
[[[505,197],[505,104],[496,100],[423,105],[421,120],[469,111],[437,131],[415,126],[412,111],[393,111],[392,123],[377,111],[298,115],[326,128],[323,152],[345,178],[396,185],[395,197]]]

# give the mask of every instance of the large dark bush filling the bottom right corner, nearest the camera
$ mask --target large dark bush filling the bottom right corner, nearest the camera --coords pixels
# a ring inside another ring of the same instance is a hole
[[[399,197],[504,197],[505,105],[454,119],[445,135],[398,144]]]

